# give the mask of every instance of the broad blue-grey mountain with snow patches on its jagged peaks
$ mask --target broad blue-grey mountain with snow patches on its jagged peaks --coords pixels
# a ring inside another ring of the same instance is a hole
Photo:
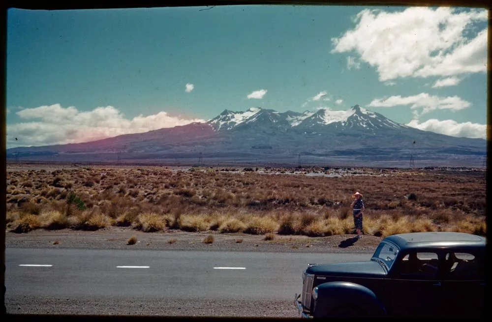
[[[252,107],[225,110],[205,123],[192,123],[94,142],[7,149],[7,158],[84,161],[196,159],[281,162],[299,154],[314,158],[408,159],[410,154],[450,160],[486,155],[483,139],[456,138],[399,124],[355,105],[347,110],[303,113]],[[292,160],[291,160],[292,161]],[[289,161],[290,162],[290,161]]]

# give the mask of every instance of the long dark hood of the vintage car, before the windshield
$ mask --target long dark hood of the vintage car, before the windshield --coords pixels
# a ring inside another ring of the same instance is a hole
[[[322,276],[382,277],[386,270],[375,261],[317,264],[306,269],[306,273]]]

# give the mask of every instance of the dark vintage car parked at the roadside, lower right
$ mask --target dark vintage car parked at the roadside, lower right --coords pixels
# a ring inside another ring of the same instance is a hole
[[[303,318],[483,318],[486,238],[437,232],[384,238],[370,261],[308,264]]]

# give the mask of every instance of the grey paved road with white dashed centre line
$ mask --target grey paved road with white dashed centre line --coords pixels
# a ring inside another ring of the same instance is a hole
[[[16,305],[22,297],[93,297],[99,305],[104,305],[101,298],[114,296],[293,301],[307,263],[369,258],[369,254],[7,248],[5,297],[16,298]]]

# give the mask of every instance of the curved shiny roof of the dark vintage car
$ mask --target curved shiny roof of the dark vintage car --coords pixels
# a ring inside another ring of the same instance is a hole
[[[484,247],[486,238],[474,234],[455,232],[425,232],[394,234],[384,238],[395,243],[400,250],[436,247]]]

